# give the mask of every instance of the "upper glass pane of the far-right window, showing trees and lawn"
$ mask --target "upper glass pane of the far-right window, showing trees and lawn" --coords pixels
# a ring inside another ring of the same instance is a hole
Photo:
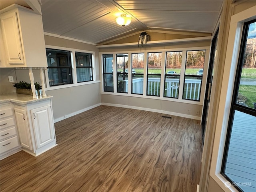
[[[251,23],[243,58],[242,74],[236,102],[256,108],[256,22]]]

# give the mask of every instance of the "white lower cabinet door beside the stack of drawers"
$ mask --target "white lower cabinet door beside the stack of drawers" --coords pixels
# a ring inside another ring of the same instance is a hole
[[[20,145],[29,150],[33,150],[26,110],[14,108],[14,111],[20,136]]]

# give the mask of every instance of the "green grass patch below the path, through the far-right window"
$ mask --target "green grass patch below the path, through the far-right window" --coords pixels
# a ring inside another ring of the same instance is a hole
[[[239,92],[247,98],[246,105],[253,108],[253,102],[256,102],[256,86],[254,85],[240,85]]]

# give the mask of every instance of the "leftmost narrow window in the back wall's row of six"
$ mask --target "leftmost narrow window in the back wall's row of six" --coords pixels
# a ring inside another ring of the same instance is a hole
[[[113,54],[102,55],[103,60],[103,89],[114,92],[113,85]]]

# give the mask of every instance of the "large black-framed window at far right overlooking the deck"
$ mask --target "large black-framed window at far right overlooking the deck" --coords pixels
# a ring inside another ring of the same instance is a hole
[[[256,20],[244,23],[221,174],[240,192],[256,190]]]

